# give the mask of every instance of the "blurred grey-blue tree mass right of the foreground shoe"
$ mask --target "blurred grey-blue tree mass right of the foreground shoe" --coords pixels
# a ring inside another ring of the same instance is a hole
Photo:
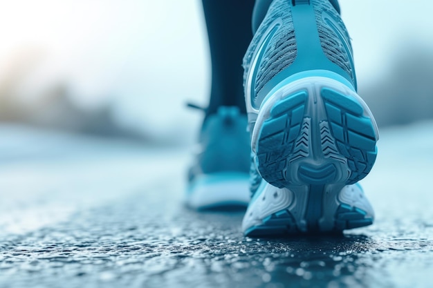
[[[382,79],[360,88],[379,126],[433,118],[433,51],[407,43]]]

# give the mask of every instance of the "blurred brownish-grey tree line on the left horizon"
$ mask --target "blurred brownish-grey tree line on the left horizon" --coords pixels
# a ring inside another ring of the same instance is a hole
[[[43,56],[42,51],[24,49],[11,57],[0,78],[0,122],[149,141],[145,132],[119,124],[109,103],[93,109],[78,106],[66,82],[53,82],[45,90],[31,90],[33,95],[21,95],[27,77],[43,63]]]

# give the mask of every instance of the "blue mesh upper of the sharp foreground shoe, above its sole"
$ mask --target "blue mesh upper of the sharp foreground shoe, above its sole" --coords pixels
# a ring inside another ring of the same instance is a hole
[[[308,70],[338,73],[356,90],[351,41],[339,12],[335,0],[270,4],[243,58],[249,114],[277,83]]]

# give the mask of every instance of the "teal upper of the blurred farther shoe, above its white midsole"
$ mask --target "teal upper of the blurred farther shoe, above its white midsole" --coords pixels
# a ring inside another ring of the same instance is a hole
[[[238,107],[221,106],[203,122],[189,180],[201,174],[249,173],[250,135]]]

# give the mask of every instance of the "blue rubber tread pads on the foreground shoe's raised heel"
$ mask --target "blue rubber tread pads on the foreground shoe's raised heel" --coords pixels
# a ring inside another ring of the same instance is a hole
[[[309,95],[313,97],[313,95]],[[356,99],[329,88],[320,91],[327,121],[318,124],[321,153],[325,159],[340,162],[338,167],[301,164],[299,178],[305,184],[342,181],[354,184],[364,178],[376,161],[376,132],[373,120],[364,115]],[[277,101],[261,126],[257,144],[257,169],[266,182],[278,188],[293,183],[288,171],[291,163],[309,155],[311,118],[306,117],[308,93],[300,91]],[[340,171],[340,173],[337,173]],[[345,171],[345,172],[344,172]],[[338,180],[338,175],[349,176]],[[315,179],[317,178],[317,181]]]

